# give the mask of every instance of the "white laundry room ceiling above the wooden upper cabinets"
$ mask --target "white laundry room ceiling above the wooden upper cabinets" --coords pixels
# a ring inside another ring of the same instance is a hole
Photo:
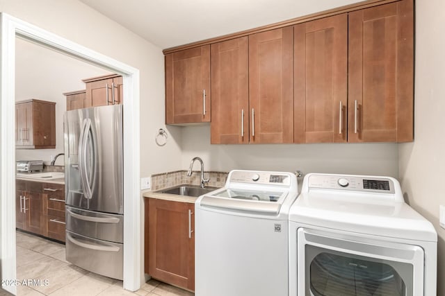
[[[167,49],[293,19],[357,0],[80,0]]]

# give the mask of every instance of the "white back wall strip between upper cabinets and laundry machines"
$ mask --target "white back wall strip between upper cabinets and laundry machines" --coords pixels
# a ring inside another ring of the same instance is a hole
[[[183,169],[199,156],[206,171],[238,168],[398,177],[398,150],[394,143],[211,145],[208,125],[183,129]]]

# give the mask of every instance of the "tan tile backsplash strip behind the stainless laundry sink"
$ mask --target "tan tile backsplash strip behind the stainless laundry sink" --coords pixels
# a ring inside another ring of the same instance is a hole
[[[209,178],[209,183],[207,183],[207,186],[224,186],[228,174],[229,173],[225,172],[204,171],[204,177]],[[200,185],[200,183],[201,171],[193,171],[190,177],[188,177],[187,171],[174,171],[152,175],[152,191],[177,186],[180,184]]]

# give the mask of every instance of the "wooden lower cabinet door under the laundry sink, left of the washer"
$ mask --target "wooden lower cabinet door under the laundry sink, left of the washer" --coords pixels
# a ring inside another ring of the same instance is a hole
[[[149,275],[195,289],[194,204],[149,199]]]

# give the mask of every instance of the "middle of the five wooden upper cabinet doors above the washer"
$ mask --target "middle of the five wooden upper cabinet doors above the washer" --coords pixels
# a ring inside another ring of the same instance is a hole
[[[250,143],[293,143],[293,27],[249,36]]]

